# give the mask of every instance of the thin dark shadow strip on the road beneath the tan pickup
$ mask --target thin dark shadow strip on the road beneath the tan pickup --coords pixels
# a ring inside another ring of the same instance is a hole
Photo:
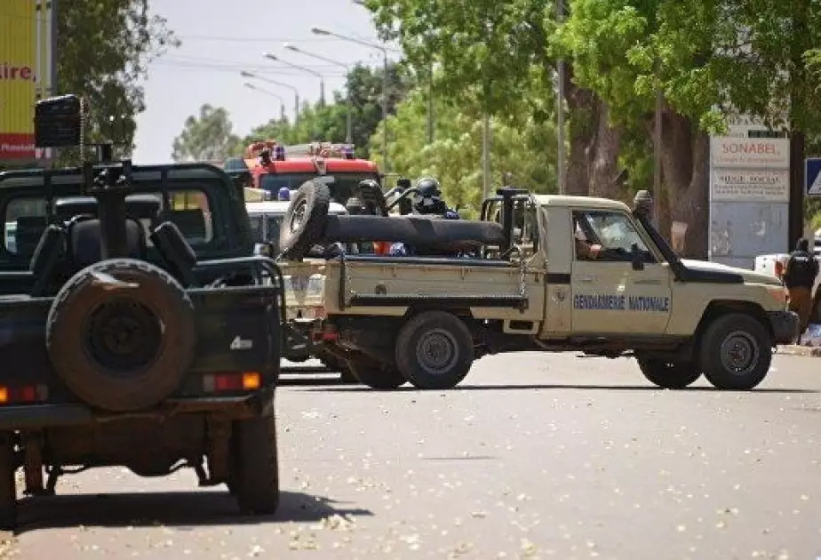
[[[532,391],[534,389],[572,389],[572,390],[581,390],[581,391],[664,391],[666,389],[654,387],[652,385],[556,385],[556,384],[541,384],[541,383],[531,383],[526,385],[459,385],[456,388],[447,389],[446,391],[442,392],[459,392],[459,391]],[[340,385],[339,387],[333,388],[307,388],[307,391],[323,391],[323,392],[334,392],[334,391],[347,391],[352,393],[362,393],[362,392],[374,392],[379,391],[379,389],[372,389],[363,387],[361,385]],[[417,388],[413,388],[410,386],[403,386],[400,388],[392,389],[391,391],[379,391],[379,392],[397,392],[397,391],[404,391],[404,392],[421,392]],[[436,391],[431,391],[436,392]],[[817,394],[821,391],[816,389],[791,389],[791,388],[754,388],[751,391],[720,391],[717,388],[713,387],[689,387],[684,389],[676,389],[676,392],[685,392],[685,393],[747,393],[750,395],[754,395],[755,393],[775,393],[775,394],[783,394],[783,395],[800,395],[800,394]]]

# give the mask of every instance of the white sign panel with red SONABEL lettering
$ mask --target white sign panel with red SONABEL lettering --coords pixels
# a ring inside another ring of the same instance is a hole
[[[785,138],[710,139],[711,164],[714,167],[790,168],[790,140]]]

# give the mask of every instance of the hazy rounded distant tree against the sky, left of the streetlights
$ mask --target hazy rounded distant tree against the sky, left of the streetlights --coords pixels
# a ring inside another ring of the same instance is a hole
[[[174,139],[171,158],[175,162],[222,161],[241,148],[241,140],[232,128],[225,108],[206,103],[199,116],[186,119],[182,132]]]

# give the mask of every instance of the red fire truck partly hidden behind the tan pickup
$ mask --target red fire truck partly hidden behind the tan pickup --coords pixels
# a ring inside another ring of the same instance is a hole
[[[306,180],[331,175],[329,184],[333,202],[345,204],[360,181],[376,180],[379,170],[373,162],[360,159],[350,144],[311,142],[283,146],[276,140],[258,140],[245,149],[242,157],[226,160],[223,169],[232,175],[251,174],[252,188],[259,188],[276,199],[283,192],[296,190]]]

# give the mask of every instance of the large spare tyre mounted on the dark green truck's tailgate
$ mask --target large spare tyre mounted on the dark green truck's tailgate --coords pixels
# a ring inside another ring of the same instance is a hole
[[[194,304],[161,268],[103,260],[65,284],[49,311],[54,371],[85,403],[111,412],[158,404],[194,360]]]

